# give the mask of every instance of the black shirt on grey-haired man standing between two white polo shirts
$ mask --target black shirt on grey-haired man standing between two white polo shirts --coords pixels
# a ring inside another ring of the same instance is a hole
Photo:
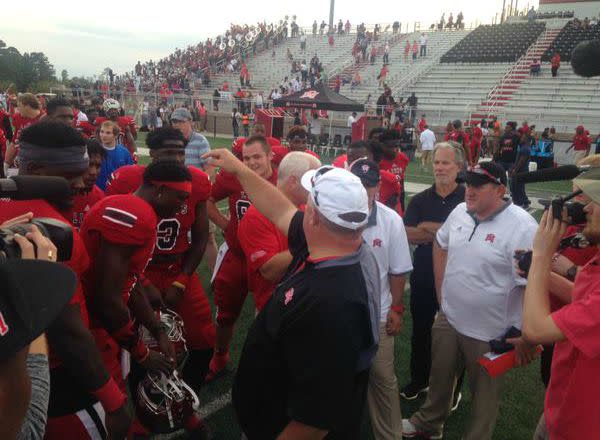
[[[459,203],[465,201],[465,187],[458,185],[446,197],[435,191],[435,184],[415,195],[404,213],[404,225],[416,227],[421,222],[444,223]],[[423,282],[434,285],[432,244],[423,243],[416,246],[413,253],[413,272],[411,282]]]

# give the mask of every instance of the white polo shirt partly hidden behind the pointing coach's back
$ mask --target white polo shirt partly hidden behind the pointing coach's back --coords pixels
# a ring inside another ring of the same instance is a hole
[[[392,306],[390,275],[402,275],[410,272],[412,261],[402,218],[396,211],[379,202],[375,202],[373,209],[375,212],[371,212],[369,224],[363,231],[363,240],[373,250],[379,267],[381,278],[380,322],[385,322]]]

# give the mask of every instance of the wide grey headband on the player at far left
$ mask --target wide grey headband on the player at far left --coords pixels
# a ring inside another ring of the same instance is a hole
[[[33,162],[37,165],[57,167],[68,173],[84,172],[89,166],[85,145],[54,148],[20,142],[17,159],[20,164]]]

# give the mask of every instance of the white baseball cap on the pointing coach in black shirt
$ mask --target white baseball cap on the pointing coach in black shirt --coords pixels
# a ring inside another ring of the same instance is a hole
[[[315,208],[330,222],[357,230],[367,224],[369,201],[360,179],[343,168],[322,166],[302,176]]]

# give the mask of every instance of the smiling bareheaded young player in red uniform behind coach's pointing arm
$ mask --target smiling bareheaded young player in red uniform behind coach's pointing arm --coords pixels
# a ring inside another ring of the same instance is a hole
[[[277,170],[271,163],[271,146],[262,136],[248,138],[243,147],[242,160],[255,173],[275,185]],[[221,214],[216,203],[229,200],[229,218]],[[229,361],[229,343],[233,335],[233,326],[237,320],[246,295],[248,294],[248,276],[246,257],[238,241],[238,223],[252,204],[239,181],[231,174],[221,170],[215,179],[211,196],[207,201],[209,218],[224,231],[227,251],[220,264],[217,260],[213,274],[213,292],[216,313],[215,352],[210,361],[207,380],[214,379],[225,370]]]

